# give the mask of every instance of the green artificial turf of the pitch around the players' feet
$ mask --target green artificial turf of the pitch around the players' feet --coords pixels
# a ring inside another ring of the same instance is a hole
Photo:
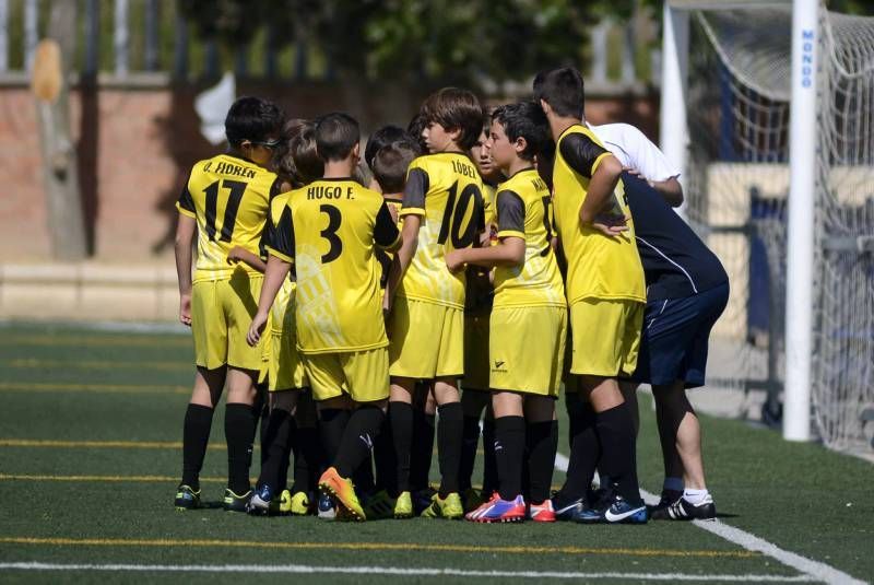
[[[702,578],[799,574],[684,523],[492,526],[415,518],[346,524],[255,518],[220,508],[179,513],[172,499],[193,372],[189,337],[47,325],[5,325],[0,334],[0,563],[305,564]],[[641,396],[640,402],[640,482],[658,493],[662,466],[656,425],[649,398]],[[222,410],[213,422],[202,484],[204,500],[216,506],[226,471]],[[567,454],[562,405],[559,416],[559,451]],[[874,575],[871,464],[818,445],[787,443],[744,422],[708,417],[701,422],[708,484],[722,522],[855,577]],[[479,463],[474,482],[482,477]],[[436,467],[435,457],[435,477]],[[80,479],[63,480],[71,477]],[[554,483],[562,479],[556,471]],[[178,574],[8,570],[0,580],[113,583],[172,576]],[[185,578],[238,582],[241,575]],[[288,578],[358,583],[390,577],[258,576]]]

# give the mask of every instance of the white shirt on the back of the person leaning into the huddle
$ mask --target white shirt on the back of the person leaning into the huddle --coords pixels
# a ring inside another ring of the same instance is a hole
[[[680,177],[680,169],[668,162],[664,153],[643,132],[630,124],[587,124],[604,148],[619,160],[623,166],[635,168],[647,180],[668,180]]]

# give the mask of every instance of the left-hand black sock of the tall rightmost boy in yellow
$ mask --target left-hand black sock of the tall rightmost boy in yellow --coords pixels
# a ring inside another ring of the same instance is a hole
[[[587,496],[601,455],[595,414],[591,405],[580,400],[579,408],[575,409],[571,416],[575,419],[575,434],[570,437],[570,463],[565,484],[556,495],[557,507],[564,507],[575,500]]]

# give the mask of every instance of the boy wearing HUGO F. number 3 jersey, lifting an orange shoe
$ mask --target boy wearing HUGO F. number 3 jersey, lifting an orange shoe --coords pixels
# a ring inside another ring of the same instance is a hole
[[[297,290],[297,348],[320,411],[355,410],[332,467],[319,479],[349,517],[365,519],[351,477],[370,456],[389,395],[376,246],[397,248],[400,234],[382,197],[352,178],[359,156],[358,124],[329,114],[316,128],[324,176],[291,191],[271,234],[264,286],[249,328],[260,340],[270,306],[292,262]]]

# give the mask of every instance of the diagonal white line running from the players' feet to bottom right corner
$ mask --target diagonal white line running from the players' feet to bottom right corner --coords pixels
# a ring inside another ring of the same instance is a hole
[[[567,472],[567,466],[569,463],[570,460],[565,455],[562,455],[560,453],[555,455],[555,468],[559,471]],[[640,494],[643,496],[643,501],[647,504],[654,505],[659,503],[659,496],[654,493],[640,490]],[[860,581],[852,575],[849,575],[842,571],[838,571],[834,566],[807,559],[806,557],[795,554],[794,552],[789,552],[788,550],[783,550],[773,542],[769,542],[764,538],[759,538],[745,530],[730,526],[720,519],[693,520],[692,524],[698,528],[707,530],[708,533],[724,538],[729,542],[734,542],[746,550],[760,552],[767,557],[770,557],[771,559],[775,559],[780,563],[794,569],[795,571],[800,571],[803,573],[801,576],[835,585],[865,585],[864,581]]]

